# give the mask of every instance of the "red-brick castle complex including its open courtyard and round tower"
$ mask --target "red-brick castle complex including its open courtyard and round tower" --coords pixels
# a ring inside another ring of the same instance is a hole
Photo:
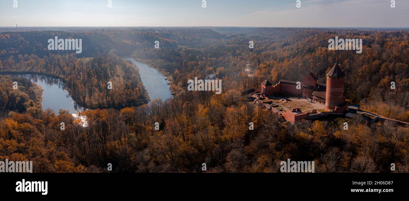
[[[300,81],[280,80],[272,84],[268,80],[261,82],[259,89],[246,90],[254,98],[254,103],[263,104],[267,110],[273,110],[296,123],[301,119],[311,119],[323,113],[342,114],[348,110],[344,97],[345,74],[338,62],[326,73],[326,85],[317,83],[317,76],[308,73]],[[308,102],[308,98],[312,102]]]

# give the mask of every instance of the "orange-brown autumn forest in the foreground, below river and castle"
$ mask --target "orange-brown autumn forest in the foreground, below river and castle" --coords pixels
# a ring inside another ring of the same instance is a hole
[[[34,172],[107,172],[108,163],[114,172],[200,172],[202,163],[208,172],[279,172],[287,158],[314,160],[316,172],[388,172],[390,163],[409,171],[408,128],[365,125],[358,115],[286,124],[241,101],[234,88],[221,95],[183,92],[150,106],[87,110],[87,127],[68,111],[23,106],[0,121],[0,159],[33,161]]]

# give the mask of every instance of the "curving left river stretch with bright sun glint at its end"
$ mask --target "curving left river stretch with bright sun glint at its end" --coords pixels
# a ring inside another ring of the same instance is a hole
[[[61,80],[44,75],[16,74],[10,76],[24,77],[31,82],[43,87],[43,109],[51,108],[58,114],[60,109],[68,110],[71,114],[84,111],[64,90],[64,83]]]

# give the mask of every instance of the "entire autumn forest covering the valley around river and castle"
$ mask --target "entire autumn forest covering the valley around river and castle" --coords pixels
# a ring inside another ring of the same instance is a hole
[[[137,68],[118,57],[118,49],[83,42],[88,51],[77,58],[47,52],[41,48],[46,44],[34,42],[37,37],[29,39],[33,33],[0,33],[1,71],[52,73],[91,108],[82,113],[88,122],[84,127],[68,111],[38,106],[30,82],[18,80],[16,91],[13,80],[1,76],[0,160],[31,160],[34,172],[107,172],[108,163],[113,172],[200,172],[202,163],[207,172],[279,172],[280,161],[288,158],[315,161],[315,172],[390,172],[391,163],[397,172],[409,172],[409,128],[367,124],[360,115],[289,124],[241,97],[241,91],[258,88],[263,80],[299,80],[309,72],[325,84],[326,71],[338,61],[349,102],[409,121],[409,31],[217,29],[105,30],[72,37],[107,37],[107,46],[123,47],[123,53],[168,72],[177,95],[151,104],[144,104],[148,97]],[[329,51],[328,39],[335,35],[362,38],[362,54]],[[153,48],[155,40],[160,49]],[[250,40],[254,49],[248,47]],[[20,49],[16,41],[28,43],[19,44]],[[255,71],[252,77],[244,72],[247,61]],[[187,80],[211,73],[222,79],[222,94],[186,90]],[[108,93],[103,84],[111,79],[114,87],[117,83],[130,91]],[[154,129],[156,122],[160,130]]]

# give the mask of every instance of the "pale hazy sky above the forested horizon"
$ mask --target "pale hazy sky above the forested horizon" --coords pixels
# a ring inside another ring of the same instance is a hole
[[[409,0],[0,0],[0,27],[409,27]]]

